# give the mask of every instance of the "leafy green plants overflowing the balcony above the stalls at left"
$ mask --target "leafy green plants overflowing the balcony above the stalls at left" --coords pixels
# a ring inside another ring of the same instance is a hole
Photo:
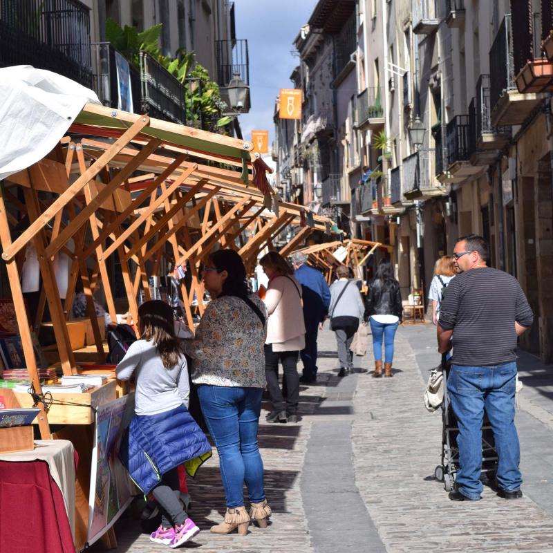
[[[201,114],[204,129],[221,132],[223,127],[232,122],[232,118],[221,117],[226,104],[221,100],[218,84],[209,79],[205,67],[194,62],[194,52],[179,48],[175,57],[162,55],[159,46],[161,26],[162,24],[157,24],[138,32],[135,27],[126,25],[122,28],[109,18],[106,21],[106,39],[136,68],[140,68],[142,51],[156,59],[182,84],[186,83],[187,78],[198,79],[201,86],[193,83],[187,90],[187,121],[198,122]]]

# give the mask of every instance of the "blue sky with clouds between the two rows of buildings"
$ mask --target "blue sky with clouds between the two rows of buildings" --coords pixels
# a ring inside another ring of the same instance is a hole
[[[274,137],[274,100],[280,88],[292,88],[290,75],[299,58],[292,41],[308,22],[317,0],[235,0],[236,38],[247,39],[250,56],[250,113],[240,116],[245,140],[252,130]]]

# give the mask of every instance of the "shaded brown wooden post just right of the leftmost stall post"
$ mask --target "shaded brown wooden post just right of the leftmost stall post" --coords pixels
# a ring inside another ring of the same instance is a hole
[[[32,224],[32,221],[37,221],[37,218],[40,216],[37,191],[24,187],[23,192],[29,214],[29,221]],[[46,292],[46,301],[48,301],[48,309],[50,310],[50,317],[54,327],[57,350],[59,352],[59,361],[62,363],[62,371],[64,375],[68,376],[73,374],[73,368],[75,368],[75,357],[73,357],[71,341],[69,340],[69,334],[67,332],[64,310],[62,308],[62,300],[59,299],[59,290],[57,288],[53,265],[50,263],[48,256],[46,256],[45,234],[44,229],[41,229],[37,234],[35,234],[35,236],[33,236],[32,240],[34,241],[35,249],[37,250],[39,267],[42,275],[42,285],[44,286],[44,290]]]

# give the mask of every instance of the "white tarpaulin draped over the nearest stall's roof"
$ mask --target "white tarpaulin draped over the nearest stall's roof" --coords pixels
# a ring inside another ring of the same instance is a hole
[[[41,160],[97,95],[67,77],[14,66],[0,69],[0,180]]]

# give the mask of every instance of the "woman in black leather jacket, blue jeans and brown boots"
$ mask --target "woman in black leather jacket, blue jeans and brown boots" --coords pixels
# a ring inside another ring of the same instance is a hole
[[[365,321],[371,324],[375,371],[373,377],[382,376],[382,339],[384,338],[384,376],[391,377],[393,339],[397,325],[402,321],[403,305],[400,283],[393,277],[389,261],[380,261],[376,277],[369,283]]]

